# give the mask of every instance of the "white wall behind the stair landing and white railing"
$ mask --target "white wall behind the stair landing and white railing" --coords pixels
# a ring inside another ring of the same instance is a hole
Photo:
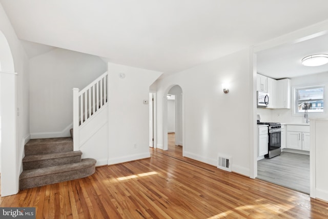
[[[70,136],[73,88],[80,90],[107,70],[98,56],[54,49],[33,57],[30,68],[32,138]]]

